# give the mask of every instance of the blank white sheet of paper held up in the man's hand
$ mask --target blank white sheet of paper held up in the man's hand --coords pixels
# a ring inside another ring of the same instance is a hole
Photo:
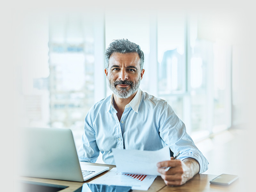
[[[136,149],[112,149],[118,172],[145,175],[160,175],[156,164],[171,160],[169,147],[157,151],[142,151]]]

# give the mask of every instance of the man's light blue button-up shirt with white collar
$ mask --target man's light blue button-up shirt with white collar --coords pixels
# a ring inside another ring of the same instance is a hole
[[[165,100],[139,89],[125,106],[120,122],[116,113],[113,94],[89,110],[78,149],[80,161],[94,163],[101,152],[106,164],[115,164],[112,148],[153,151],[168,146],[174,155],[181,152],[178,159],[196,159],[200,165],[199,173],[208,169],[208,161]]]

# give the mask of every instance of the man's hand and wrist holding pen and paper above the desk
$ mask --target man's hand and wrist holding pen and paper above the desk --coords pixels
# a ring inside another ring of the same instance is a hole
[[[196,173],[199,172],[199,164],[193,158],[187,158],[181,161],[180,159],[173,159],[169,161],[162,161],[157,163],[157,171],[161,173],[166,185],[178,186],[186,183]],[[165,172],[166,167],[171,167]]]

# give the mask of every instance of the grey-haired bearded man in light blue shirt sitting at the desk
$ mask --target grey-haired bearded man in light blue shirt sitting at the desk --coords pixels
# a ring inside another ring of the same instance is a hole
[[[171,106],[140,90],[145,72],[140,46],[127,39],[114,40],[105,58],[113,94],[96,103],[85,117],[80,161],[95,162],[101,152],[106,164],[115,164],[112,148],[158,150],[169,146],[174,154],[181,153],[175,160],[157,164],[166,185],[182,185],[196,173],[205,172],[208,161]],[[165,172],[165,167],[171,168]]]

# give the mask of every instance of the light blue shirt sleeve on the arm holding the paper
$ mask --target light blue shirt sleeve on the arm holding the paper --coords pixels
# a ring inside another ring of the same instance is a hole
[[[166,101],[158,108],[158,130],[165,145],[169,146],[174,155],[180,151],[178,159],[196,159],[200,166],[199,173],[203,173],[208,169],[209,163],[207,159],[186,132],[185,124]]]

